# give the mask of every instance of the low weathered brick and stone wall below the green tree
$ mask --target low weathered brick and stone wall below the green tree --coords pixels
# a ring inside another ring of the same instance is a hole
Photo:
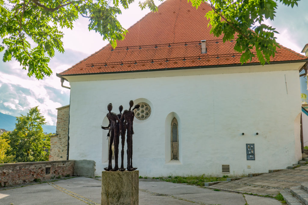
[[[0,164],[0,187],[74,174],[74,160]]]

